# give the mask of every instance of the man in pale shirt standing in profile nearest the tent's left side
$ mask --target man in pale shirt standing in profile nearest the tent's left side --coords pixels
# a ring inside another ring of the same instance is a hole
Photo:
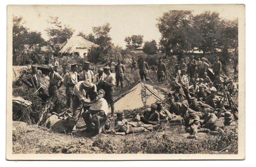
[[[114,86],[115,86],[115,77],[110,72],[110,67],[104,67],[104,72],[107,74],[104,83],[104,90],[106,92],[104,98],[107,100],[108,104],[111,106],[111,117],[114,118],[115,111],[115,98],[114,98]]]

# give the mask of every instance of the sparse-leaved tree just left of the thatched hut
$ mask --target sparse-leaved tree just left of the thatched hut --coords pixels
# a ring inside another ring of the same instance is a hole
[[[75,30],[70,28],[69,25],[62,26],[59,17],[49,17],[50,19],[46,21],[51,24],[51,27],[44,30],[49,37],[49,45],[55,46],[67,41],[67,39],[73,35]]]

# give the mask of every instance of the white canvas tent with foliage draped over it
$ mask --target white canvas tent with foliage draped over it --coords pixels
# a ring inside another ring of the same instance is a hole
[[[170,92],[170,87],[161,87],[138,82],[134,87],[125,93],[123,97],[115,102],[115,110],[133,110],[151,105],[156,101],[164,101],[164,93]]]

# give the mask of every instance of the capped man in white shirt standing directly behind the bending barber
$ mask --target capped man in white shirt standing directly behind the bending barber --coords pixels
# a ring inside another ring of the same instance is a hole
[[[92,82],[94,74],[91,70],[89,70],[89,67],[90,67],[90,62],[85,61],[84,62],[84,70],[79,74],[79,81],[86,80],[86,81]],[[95,93],[97,93],[97,92],[95,92]],[[91,101],[95,98],[95,96],[96,96],[95,93],[93,93],[92,89],[88,90],[88,95],[89,95]]]

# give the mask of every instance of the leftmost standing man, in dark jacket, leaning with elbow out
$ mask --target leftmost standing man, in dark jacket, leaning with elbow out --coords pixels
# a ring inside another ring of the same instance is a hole
[[[22,82],[28,86],[28,88],[37,90],[36,94],[41,95],[41,92],[44,93],[44,88],[40,86],[40,80],[37,76],[36,70],[37,66],[31,66],[32,72],[29,73],[26,77],[22,78]]]

